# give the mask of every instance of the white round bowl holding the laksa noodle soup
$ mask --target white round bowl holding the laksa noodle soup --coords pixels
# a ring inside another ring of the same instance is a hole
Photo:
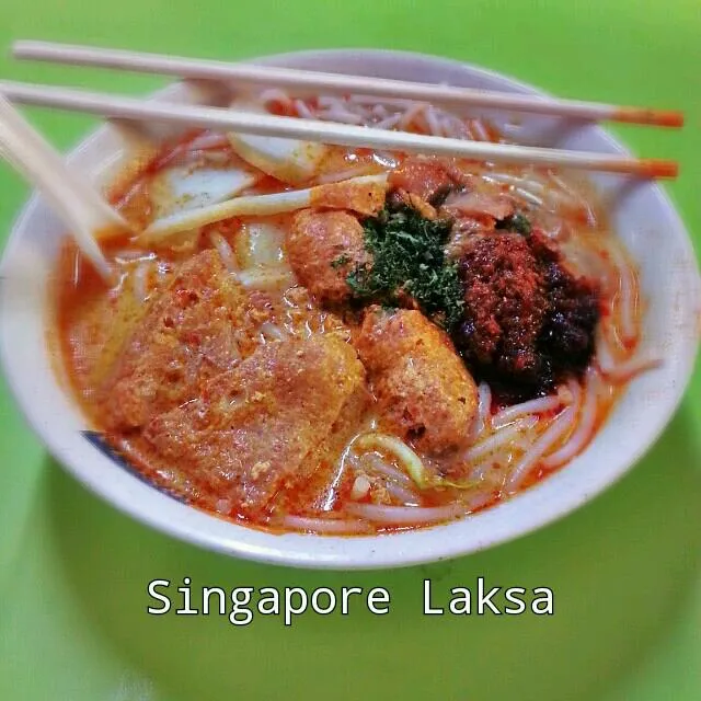
[[[289,54],[264,62],[456,85],[537,93],[524,83],[451,60],[376,50]],[[192,101],[183,84],[156,99]],[[506,126],[504,115],[492,115]],[[526,117],[507,126],[521,141],[624,153],[604,130]],[[108,180],[128,156],[128,143],[102,127],[70,156],[74,168]],[[640,265],[650,303],[644,346],[664,365],[634,380],[585,452],[538,486],[461,521],[426,530],[364,538],[275,536],[237,526],[189,507],[125,470],[89,440],[85,422],[47,349],[47,280],[64,229],[37,196],[16,221],[2,261],[0,340],[10,387],[50,452],[80,482],[123,512],[203,548],[263,562],[306,567],[393,567],[475,552],[549,524],[621,478],[663,432],[683,394],[697,354],[701,285],[683,225],[654,184],[594,179],[612,207],[612,226]]]

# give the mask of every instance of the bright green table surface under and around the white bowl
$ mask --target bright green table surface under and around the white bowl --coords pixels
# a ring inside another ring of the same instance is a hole
[[[142,94],[163,81],[13,64],[47,38],[235,59],[383,47],[481,64],[574,97],[679,107],[683,133],[621,128],[677,158],[669,186],[701,250],[699,0],[0,0],[0,77]],[[32,117],[61,148],[94,122]],[[0,235],[27,195],[0,165]],[[664,238],[664,232],[660,232]],[[0,384],[0,699],[701,699],[701,372],[669,429],[613,489],[568,518],[450,563],[318,573],[218,556],[116,513],[47,456]],[[624,439],[624,438],[623,438]],[[147,583],[384,586],[390,613],[152,617]],[[426,617],[444,594],[548,586],[552,617]]]

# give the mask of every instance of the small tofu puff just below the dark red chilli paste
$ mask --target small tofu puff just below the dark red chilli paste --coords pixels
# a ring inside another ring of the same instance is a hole
[[[478,390],[446,333],[418,311],[374,307],[356,347],[393,433],[433,455],[467,446]]]

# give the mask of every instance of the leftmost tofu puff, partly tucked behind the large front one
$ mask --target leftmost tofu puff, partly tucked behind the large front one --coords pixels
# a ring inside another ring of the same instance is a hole
[[[100,390],[111,430],[139,428],[198,392],[241,358],[234,330],[246,323],[248,297],[216,251],[177,271],[137,323]]]

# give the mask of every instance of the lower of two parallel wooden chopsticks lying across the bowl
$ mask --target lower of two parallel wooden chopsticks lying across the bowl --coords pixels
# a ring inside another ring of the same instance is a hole
[[[0,81],[0,93],[24,104],[123,119],[150,119],[191,128],[225,129],[258,136],[433,156],[458,156],[481,161],[625,173],[641,177],[676,177],[678,174],[677,163],[668,160],[639,160],[604,153],[468,141],[315,119],[251,114],[221,107],[145,102],[71,88]]]

